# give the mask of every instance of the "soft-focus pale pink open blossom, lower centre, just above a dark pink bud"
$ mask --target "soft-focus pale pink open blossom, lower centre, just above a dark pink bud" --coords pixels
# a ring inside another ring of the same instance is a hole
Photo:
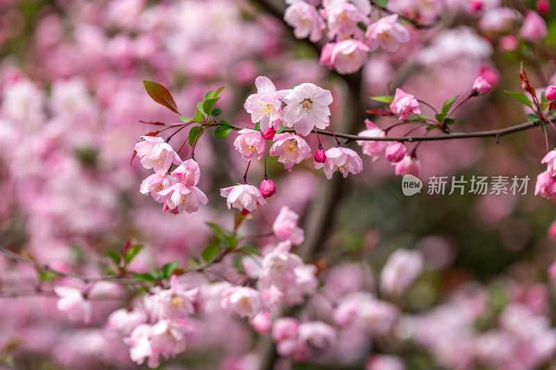
[[[222,310],[240,317],[254,317],[263,310],[261,294],[250,287],[230,287],[222,292]]]

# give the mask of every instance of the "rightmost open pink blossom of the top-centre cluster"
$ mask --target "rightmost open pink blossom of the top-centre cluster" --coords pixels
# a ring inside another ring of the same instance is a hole
[[[395,53],[402,42],[411,39],[407,28],[398,23],[398,15],[382,17],[367,27],[365,32],[370,51],[381,47],[387,53]]]

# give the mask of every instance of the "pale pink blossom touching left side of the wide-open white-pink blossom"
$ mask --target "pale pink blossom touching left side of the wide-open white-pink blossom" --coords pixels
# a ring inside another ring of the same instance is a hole
[[[243,107],[251,114],[253,123],[260,122],[262,131],[269,127],[279,129],[282,102],[278,99],[275,85],[268,77],[259,76],[255,79],[255,86],[256,94],[248,96]]]

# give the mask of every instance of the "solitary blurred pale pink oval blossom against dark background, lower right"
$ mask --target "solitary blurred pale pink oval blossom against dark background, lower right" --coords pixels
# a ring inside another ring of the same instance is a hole
[[[401,294],[414,283],[423,269],[419,251],[397,249],[390,255],[380,272],[380,289],[386,294]]]

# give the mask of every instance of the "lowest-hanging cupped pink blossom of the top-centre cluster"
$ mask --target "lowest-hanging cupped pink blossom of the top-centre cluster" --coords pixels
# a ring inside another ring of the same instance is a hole
[[[368,60],[367,53],[370,49],[359,40],[348,39],[334,44],[330,63],[339,74],[357,72]]]

